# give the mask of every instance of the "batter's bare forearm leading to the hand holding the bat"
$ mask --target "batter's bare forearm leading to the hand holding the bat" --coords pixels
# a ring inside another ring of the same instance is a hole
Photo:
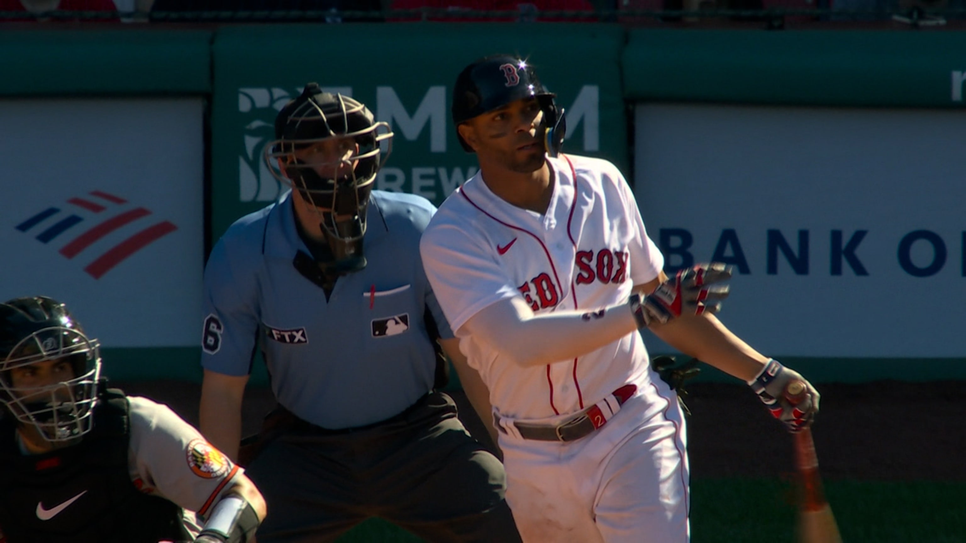
[[[754,379],[768,360],[714,315],[681,317],[650,330],[671,347],[742,381]]]

